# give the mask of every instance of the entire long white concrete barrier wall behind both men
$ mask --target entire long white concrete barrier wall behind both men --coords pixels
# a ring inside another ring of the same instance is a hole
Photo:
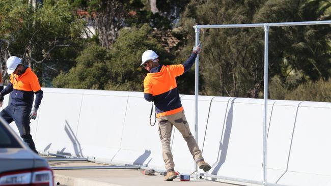
[[[152,103],[142,92],[43,91],[31,123],[38,150],[164,170],[158,126],[149,124]],[[194,98],[181,96],[192,134]],[[331,103],[269,100],[267,182],[331,186],[330,111]],[[11,126],[16,130],[15,123]],[[198,133],[205,161],[212,165],[208,174],[262,181],[263,100],[200,96]],[[193,172],[186,142],[175,128],[172,135],[175,169]]]

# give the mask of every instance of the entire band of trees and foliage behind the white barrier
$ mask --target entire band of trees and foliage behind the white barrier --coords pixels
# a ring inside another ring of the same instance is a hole
[[[17,55],[43,86],[66,88],[142,91],[142,53],[156,51],[164,65],[183,63],[195,44],[195,24],[331,19],[327,0],[45,0],[36,7],[29,2],[0,1],[3,76],[6,59]],[[293,92],[310,92],[308,85],[327,89],[330,35],[330,25],[269,28],[269,98],[299,99],[301,93]],[[200,94],[263,97],[262,27],[200,29],[200,41]],[[194,94],[194,70],[178,77],[181,94]],[[323,92],[316,88],[316,94]]]

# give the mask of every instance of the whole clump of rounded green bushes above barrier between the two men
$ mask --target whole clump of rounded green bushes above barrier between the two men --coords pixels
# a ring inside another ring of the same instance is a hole
[[[91,46],[77,57],[77,66],[61,73],[53,84],[61,88],[143,91],[146,71],[140,67],[145,50],[157,52],[162,64],[169,64],[171,55],[153,37],[147,24],[140,28],[122,28],[111,50]]]

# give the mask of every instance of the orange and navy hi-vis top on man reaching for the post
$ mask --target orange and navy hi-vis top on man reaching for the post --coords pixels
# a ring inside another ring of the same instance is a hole
[[[192,53],[184,64],[160,65],[150,70],[144,80],[144,97],[154,101],[156,117],[178,113],[183,110],[176,77],[189,70],[197,54]]]

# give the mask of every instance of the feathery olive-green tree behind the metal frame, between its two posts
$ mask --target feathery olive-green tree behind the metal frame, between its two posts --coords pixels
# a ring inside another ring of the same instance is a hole
[[[251,22],[259,4],[259,1],[192,1],[181,21],[191,41],[187,50],[195,40],[191,25]],[[263,78],[263,47],[260,49],[258,32],[258,29],[242,28],[201,29],[200,73],[205,79],[202,94],[258,97]]]

